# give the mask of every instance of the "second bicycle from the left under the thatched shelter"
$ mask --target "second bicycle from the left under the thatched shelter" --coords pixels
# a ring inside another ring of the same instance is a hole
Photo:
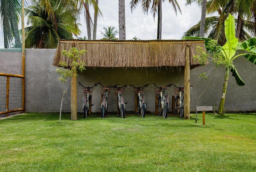
[[[101,85],[101,94],[103,95],[102,97],[102,100],[101,100],[101,118],[104,117],[104,115],[107,113],[107,109],[108,109],[108,106],[111,106],[111,105],[108,105],[108,94],[110,94],[110,91],[113,87],[116,87],[117,85],[114,85],[114,86],[111,86],[111,85],[108,85],[106,87],[104,87],[100,82],[98,82],[99,85]]]

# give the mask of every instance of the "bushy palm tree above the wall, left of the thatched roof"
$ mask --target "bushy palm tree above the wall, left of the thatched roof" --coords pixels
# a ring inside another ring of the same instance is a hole
[[[26,48],[56,48],[58,39],[72,39],[72,35],[80,34],[76,23],[79,21],[76,6],[70,2],[66,4],[68,8],[64,8],[55,0],[49,2],[54,13],[51,18],[39,0],[33,0],[25,9],[27,24],[30,25],[25,28]]]

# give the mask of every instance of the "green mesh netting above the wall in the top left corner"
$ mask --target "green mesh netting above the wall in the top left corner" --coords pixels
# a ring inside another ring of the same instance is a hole
[[[0,0],[0,51],[21,51],[21,0]]]

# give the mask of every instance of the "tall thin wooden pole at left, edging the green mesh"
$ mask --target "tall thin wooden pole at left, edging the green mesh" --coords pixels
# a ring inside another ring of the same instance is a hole
[[[21,0],[21,41],[22,41],[22,49],[21,49],[21,58],[22,58],[22,108],[24,109],[22,112],[25,112],[25,25],[24,25],[24,0]]]

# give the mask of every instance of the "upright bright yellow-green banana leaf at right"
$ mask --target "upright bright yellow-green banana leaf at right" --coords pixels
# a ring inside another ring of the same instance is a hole
[[[231,59],[235,55],[238,45],[238,39],[235,37],[235,18],[231,14],[225,20],[225,36],[227,42],[222,48],[227,54],[227,59]]]

